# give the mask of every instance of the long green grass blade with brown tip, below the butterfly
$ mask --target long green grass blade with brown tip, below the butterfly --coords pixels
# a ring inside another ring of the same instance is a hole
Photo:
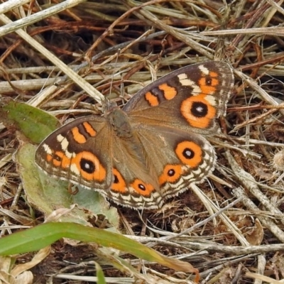
[[[133,241],[126,236],[110,231],[83,226],[75,223],[51,222],[35,226],[26,231],[19,231],[0,239],[0,255],[8,256],[16,253],[38,251],[61,238],[75,239],[84,242],[95,242],[101,246],[112,247],[131,253],[146,261],[154,261],[173,268],[176,271],[198,273],[190,263],[168,258],[157,251]]]

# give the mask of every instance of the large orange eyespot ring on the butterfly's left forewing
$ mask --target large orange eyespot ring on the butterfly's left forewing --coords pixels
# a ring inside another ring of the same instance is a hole
[[[75,164],[76,168],[80,170],[82,178],[85,180],[97,180],[99,182],[104,181],[107,175],[107,171],[99,163],[99,159],[91,152],[82,151],[77,153],[74,158],[71,159],[71,163]],[[89,163],[89,173],[86,169],[83,169],[81,163]]]

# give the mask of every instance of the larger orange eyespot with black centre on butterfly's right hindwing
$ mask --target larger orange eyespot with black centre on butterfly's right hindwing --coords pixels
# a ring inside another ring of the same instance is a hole
[[[202,149],[192,141],[183,141],[175,148],[175,153],[185,165],[197,168],[202,162]]]

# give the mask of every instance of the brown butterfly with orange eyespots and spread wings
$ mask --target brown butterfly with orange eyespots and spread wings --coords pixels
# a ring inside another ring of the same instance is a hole
[[[35,163],[133,209],[158,209],[202,182],[216,163],[206,136],[234,87],[221,61],[182,67],[141,89],[122,109],[84,116],[40,143]]]

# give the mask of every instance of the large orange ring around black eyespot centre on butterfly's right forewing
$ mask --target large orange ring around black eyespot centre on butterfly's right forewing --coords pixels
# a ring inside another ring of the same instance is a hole
[[[213,107],[207,99],[205,99],[207,94],[200,94],[198,96],[189,97],[182,102],[180,111],[182,116],[187,120],[188,124],[192,127],[197,127],[198,129],[206,129],[212,119],[216,116],[216,109]],[[192,114],[192,108],[194,103],[202,103],[207,107],[207,114],[205,116],[195,116]]]

